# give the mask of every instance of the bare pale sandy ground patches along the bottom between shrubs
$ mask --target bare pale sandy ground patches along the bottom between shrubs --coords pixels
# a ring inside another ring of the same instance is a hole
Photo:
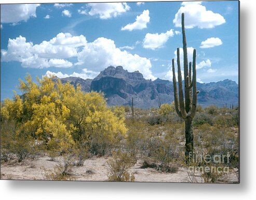
[[[74,166],[71,174],[77,181],[107,181],[107,157],[93,156],[87,159],[84,166]],[[1,179],[19,180],[42,180],[44,170],[53,168],[57,165],[56,161],[50,161],[47,156],[42,156],[34,160],[25,160],[18,163],[16,160],[1,163]],[[130,171],[134,173],[136,182],[189,182],[185,167],[180,167],[176,173],[159,172],[153,168],[140,168],[141,161],[138,161]],[[88,170],[93,172],[88,174]],[[196,176],[198,182],[203,180]],[[234,172],[224,177],[223,182],[235,183],[238,178]]]

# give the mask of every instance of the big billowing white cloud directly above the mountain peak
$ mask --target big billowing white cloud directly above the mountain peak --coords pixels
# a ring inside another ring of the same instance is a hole
[[[138,54],[131,54],[116,48],[111,39],[100,37],[87,43],[84,49],[78,53],[78,63],[85,65],[93,71],[100,71],[112,65],[121,65],[129,72],[139,70],[147,79],[155,79],[151,72],[151,62]]]

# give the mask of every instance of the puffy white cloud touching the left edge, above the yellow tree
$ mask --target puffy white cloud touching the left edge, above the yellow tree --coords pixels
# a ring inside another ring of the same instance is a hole
[[[69,33],[59,33],[50,41],[33,45],[26,42],[26,38],[19,36],[9,39],[8,49],[1,50],[2,61],[18,61],[23,67],[47,68],[71,67],[72,63],[64,59],[77,56],[77,48],[86,45],[83,35],[72,36]]]

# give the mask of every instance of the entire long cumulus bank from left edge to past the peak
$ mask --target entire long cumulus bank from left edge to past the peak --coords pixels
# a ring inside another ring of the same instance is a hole
[[[80,65],[91,72],[100,72],[110,65],[122,65],[129,72],[139,70],[145,78],[155,79],[149,59],[121,50],[115,46],[113,40],[103,37],[87,42],[83,35],[59,33],[49,41],[34,45],[26,41],[25,37],[19,36],[16,39],[9,39],[8,49],[2,49],[1,55],[3,62],[17,61],[22,67],[32,68]],[[77,59],[77,62],[71,63],[71,58]]]

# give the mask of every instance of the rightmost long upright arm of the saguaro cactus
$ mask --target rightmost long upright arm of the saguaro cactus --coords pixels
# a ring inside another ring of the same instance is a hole
[[[192,109],[191,109],[191,118],[193,119],[196,115],[196,102],[197,102],[197,93],[196,91],[196,50],[193,52],[193,100],[192,100]]]

